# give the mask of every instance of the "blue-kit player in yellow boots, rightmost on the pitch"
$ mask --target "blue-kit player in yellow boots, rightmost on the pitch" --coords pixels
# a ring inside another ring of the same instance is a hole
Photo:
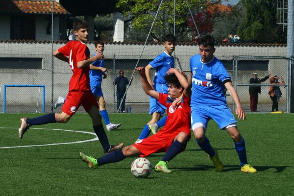
[[[235,148],[241,162],[241,171],[254,173],[257,172],[247,162],[245,140],[237,128],[231,110],[227,106],[223,89],[227,89],[234,100],[237,109],[235,111],[238,119],[245,120],[245,113],[242,104],[234,89],[230,75],[227,73],[223,64],[214,56],[215,39],[206,35],[198,41],[200,54],[194,55],[190,59],[191,74],[189,77],[192,82],[191,97],[191,125],[196,142],[213,161],[218,172],[223,170],[223,165],[216,148],[210,145],[205,136],[207,124],[213,119],[220,129],[225,129],[235,143]]]

